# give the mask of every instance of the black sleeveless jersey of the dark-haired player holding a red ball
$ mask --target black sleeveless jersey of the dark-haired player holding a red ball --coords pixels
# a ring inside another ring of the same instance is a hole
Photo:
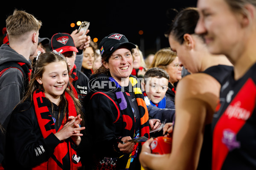
[[[233,70],[232,66],[227,65],[215,65],[207,68],[202,73],[209,74],[214,77],[220,84]],[[211,136],[211,124],[205,125],[204,128],[204,140],[201,148],[200,158],[198,162],[197,170],[211,170],[212,161],[212,136]]]

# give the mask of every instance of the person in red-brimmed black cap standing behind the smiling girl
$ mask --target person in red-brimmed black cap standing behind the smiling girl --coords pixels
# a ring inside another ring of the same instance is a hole
[[[67,33],[54,34],[49,42],[49,49],[50,51],[60,52],[66,57],[78,99],[85,100],[90,91],[87,87],[89,79],[85,74],[76,69],[75,59],[78,50],[71,35]]]

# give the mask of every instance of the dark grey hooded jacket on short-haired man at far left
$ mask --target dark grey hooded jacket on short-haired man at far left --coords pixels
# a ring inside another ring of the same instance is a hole
[[[10,114],[20,102],[28,84],[27,76],[23,68],[31,67],[30,62],[13,50],[9,45],[3,44],[0,47],[0,65],[9,65],[10,62],[25,63],[22,68],[9,68],[0,76],[0,124],[6,130]],[[3,155],[5,148],[5,134],[0,131],[0,163],[4,164]],[[3,161],[3,162],[2,162]]]

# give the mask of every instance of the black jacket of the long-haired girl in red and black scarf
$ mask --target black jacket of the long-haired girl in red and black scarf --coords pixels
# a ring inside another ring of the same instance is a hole
[[[55,115],[58,115],[58,107],[54,105],[54,108],[54,112],[57,112]],[[51,112],[51,106],[49,106],[48,109]],[[60,124],[62,119],[59,120]],[[59,126],[55,128],[58,129]],[[13,111],[7,127],[6,169],[31,169],[32,167],[47,161],[60,142],[61,141],[53,133],[44,139],[38,125],[34,105],[30,105],[30,101],[23,102],[17,105]],[[73,144],[72,147],[75,150],[86,150],[83,147],[89,145],[87,142],[88,141],[86,141],[86,137],[84,136],[79,146]],[[35,150],[40,150],[41,154],[37,155]]]

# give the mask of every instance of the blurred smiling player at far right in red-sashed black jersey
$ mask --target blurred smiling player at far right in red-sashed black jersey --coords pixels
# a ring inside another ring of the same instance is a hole
[[[256,169],[256,1],[198,0],[198,10],[196,33],[234,65],[212,120],[212,170]]]

